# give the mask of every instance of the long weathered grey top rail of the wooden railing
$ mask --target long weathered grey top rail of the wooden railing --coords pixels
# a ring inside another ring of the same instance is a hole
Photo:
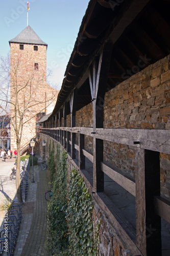
[[[43,129],[43,128],[42,128]],[[61,127],[64,131],[93,137],[91,127]],[[170,130],[96,129],[95,137],[115,143],[170,154]]]

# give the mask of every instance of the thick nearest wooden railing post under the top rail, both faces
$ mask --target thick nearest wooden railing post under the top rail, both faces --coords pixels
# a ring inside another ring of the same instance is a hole
[[[136,149],[136,245],[143,255],[161,255],[161,219],[154,209],[160,195],[159,152]]]

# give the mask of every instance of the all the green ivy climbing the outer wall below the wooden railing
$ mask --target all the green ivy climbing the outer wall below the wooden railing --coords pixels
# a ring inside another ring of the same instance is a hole
[[[93,227],[89,190],[76,168],[71,170],[68,182],[67,154],[59,144],[56,158],[57,169],[51,182],[53,198],[47,210],[50,255],[97,256],[100,224]]]

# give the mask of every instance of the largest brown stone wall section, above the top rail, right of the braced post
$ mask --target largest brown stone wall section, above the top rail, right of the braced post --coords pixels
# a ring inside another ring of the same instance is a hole
[[[106,93],[104,128],[170,129],[169,56]]]

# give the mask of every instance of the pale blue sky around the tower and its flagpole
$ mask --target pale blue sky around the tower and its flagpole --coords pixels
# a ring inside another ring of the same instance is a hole
[[[53,71],[48,79],[60,89],[70,54],[89,0],[29,0],[29,25],[48,44],[47,69]],[[0,55],[10,51],[9,40],[27,27],[27,1],[1,1]]]

